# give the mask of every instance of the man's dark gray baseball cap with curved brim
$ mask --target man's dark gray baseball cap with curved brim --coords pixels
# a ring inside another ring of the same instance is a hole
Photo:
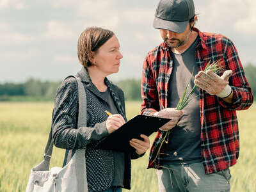
[[[182,33],[195,16],[193,0],[161,0],[156,8],[153,27]]]

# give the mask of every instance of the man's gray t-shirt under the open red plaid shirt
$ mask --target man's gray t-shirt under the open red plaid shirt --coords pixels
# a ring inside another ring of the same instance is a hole
[[[198,37],[195,42],[182,54],[173,56],[173,72],[170,77],[168,90],[168,108],[176,108],[179,99],[182,97],[186,85],[189,83],[187,93],[194,86],[194,78],[198,73],[195,61],[195,50],[198,45]],[[193,77],[191,74],[193,72]],[[183,111],[177,125],[169,136],[166,156],[163,156],[164,163],[196,163],[202,161],[200,149],[200,109],[199,109],[199,88],[191,96],[193,98]]]

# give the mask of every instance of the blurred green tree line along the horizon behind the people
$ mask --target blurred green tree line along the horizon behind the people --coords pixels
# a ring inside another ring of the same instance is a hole
[[[244,67],[244,72],[256,99],[256,66],[250,63]],[[28,79],[25,83],[3,83],[0,84],[0,101],[53,100],[60,83],[38,79]],[[124,79],[114,83],[122,88],[126,100],[141,100],[140,79]]]

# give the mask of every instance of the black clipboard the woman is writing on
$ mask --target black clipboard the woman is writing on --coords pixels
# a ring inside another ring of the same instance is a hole
[[[109,136],[103,140],[100,140],[95,148],[116,150],[119,152],[132,152],[134,148],[129,145],[129,141],[132,138],[142,139],[140,134],[150,136],[150,134],[156,132],[170,120],[170,118],[157,116],[136,115],[115,132],[109,134]]]

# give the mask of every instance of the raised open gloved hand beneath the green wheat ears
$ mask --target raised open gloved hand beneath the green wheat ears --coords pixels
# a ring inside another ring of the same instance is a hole
[[[232,88],[228,85],[228,78],[230,76],[232,76],[232,70],[225,70],[221,77],[214,74],[211,70],[206,72],[200,71],[195,76],[194,83],[210,95],[225,98],[232,93]]]

